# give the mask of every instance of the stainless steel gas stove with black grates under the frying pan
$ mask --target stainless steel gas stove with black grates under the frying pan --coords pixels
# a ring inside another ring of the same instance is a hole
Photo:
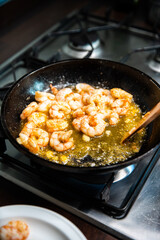
[[[1,64],[1,101],[13,82],[25,74],[73,58],[122,62],[160,83],[158,26],[146,24],[146,19],[137,24],[140,9],[131,9],[122,14],[114,2],[96,9],[87,5],[66,16]],[[91,184],[62,178],[35,164],[5,139],[2,130],[0,145],[2,177],[118,238],[159,239],[159,148],[138,164],[108,175],[105,183]]]

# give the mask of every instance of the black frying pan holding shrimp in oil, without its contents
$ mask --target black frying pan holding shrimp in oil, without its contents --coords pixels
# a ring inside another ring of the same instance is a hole
[[[118,171],[144,159],[160,142],[160,117],[147,130],[147,139],[139,153],[124,162],[103,167],[72,167],[47,161],[19,145],[20,113],[32,101],[35,91],[47,91],[49,85],[64,88],[80,82],[103,88],[122,88],[130,92],[143,112],[160,101],[160,86],[146,74],[118,62],[101,59],[67,60],[48,65],[19,79],[8,91],[2,103],[1,121],[7,138],[36,164],[82,179],[105,179],[108,173]],[[91,161],[85,157],[84,161]],[[91,180],[92,181],[92,180]],[[101,180],[100,180],[101,181]]]

